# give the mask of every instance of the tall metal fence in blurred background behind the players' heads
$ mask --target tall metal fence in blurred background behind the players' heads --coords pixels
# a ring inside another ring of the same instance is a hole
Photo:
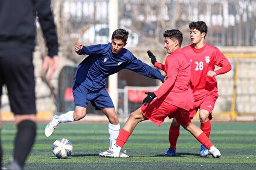
[[[109,0],[53,2],[60,31],[65,30],[71,37],[81,36],[87,43],[109,41]],[[162,41],[162,33],[174,28],[181,30],[184,42],[189,43],[188,24],[196,20],[206,22],[207,40],[212,45],[256,45],[256,1],[119,0],[118,3],[119,27],[132,33],[129,44],[133,46]]]

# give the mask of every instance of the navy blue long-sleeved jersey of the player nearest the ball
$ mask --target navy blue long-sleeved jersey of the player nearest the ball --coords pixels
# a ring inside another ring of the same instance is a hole
[[[158,70],[141,62],[126,48],[123,48],[119,54],[113,54],[110,47],[110,42],[88,47],[83,46],[78,54],[89,56],[79,63],[74,82],[82,84],[91,91],[98,91],[106,87],[106,78],[109,75],[113,75],[122,69],[133,70],[141,75],[160,79],[161,82],[164,82],[165,76],[161,75]]]

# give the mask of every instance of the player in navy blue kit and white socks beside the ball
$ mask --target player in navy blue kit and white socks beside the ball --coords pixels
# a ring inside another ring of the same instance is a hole
[[[87,114],[87,104],[91,101],[94,108],[102,110],[109,119],[109,149],[112,148],[119,134],[120,125],[115,107],[106,90],[106,78],[122,69],[133,70],[141,75],[160,79],[161,82],[164,82],[165,77],[124,48],[127,44],[128,34],[126,30],[117,29],[112,34],[111,43],[88,47],[82,44],[75,45],[77,54],[89,55],[78,65],[75,73],[73,84],[75,111],[53,116],[46,126],[46,137],[51,136],[59,123],[74,122],[84,118]],[[101,154],[99,153],[99,155]],[[120,157],[128,156],[123,153]]]

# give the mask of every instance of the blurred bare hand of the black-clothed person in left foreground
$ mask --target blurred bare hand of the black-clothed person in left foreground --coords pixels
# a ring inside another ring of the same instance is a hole
[[[41,67],[41,72],[46,74],[46,79],[50,80],[53,77],[53,73],[58,68],[58,63],[60,62],[60,58],[55,55],[53,57],[44,56],[43,66]]]

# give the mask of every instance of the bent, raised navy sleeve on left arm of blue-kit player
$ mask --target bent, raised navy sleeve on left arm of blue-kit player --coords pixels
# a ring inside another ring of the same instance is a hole
[[[95,54],[106,54],[110,48],[109,44],[97,44],[97,45],[90,45],[90,46],[83,46],[81,51],[79,51],[77,54],[83,55],[95,55]]]

